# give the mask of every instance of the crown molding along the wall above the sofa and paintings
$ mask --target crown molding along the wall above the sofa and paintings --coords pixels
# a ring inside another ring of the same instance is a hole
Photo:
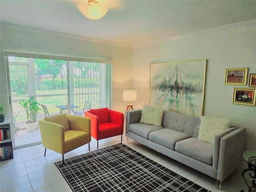
[[[256,19],[242,21],[242,22],[238,22],[238,23],[234,23],[234,24],[228,24],[228,25],[215,27],[215,28],[210,28],[210,29],[206,29],[206,30],[200,30],[200,31],[187,33],[187,34],[180,35],[180,36],[171,37],[171,38],[164,39],[164,40],[157,40],[157,41],[151,41],[151,42],[136,44],[136,45],[133,45],[132,48],[154,45],[154,44],[169,42],[169,41],[173,41],[173,40],[177,40],[177,39],[187,38],[187,37],[198,35],[198,34],[204,34],[204,33],[208,33],[208,32],[216,32],[216,31],[220,31],[220,30],[237,28],[237,27],[241,27],[241,26],[249,26],[249,25],[254,25],[254,24],[256,24]]]

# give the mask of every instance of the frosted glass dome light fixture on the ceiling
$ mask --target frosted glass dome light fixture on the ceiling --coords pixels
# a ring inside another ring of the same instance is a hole
[[[84,16],[93,20],[102,18],[108,12],[108,8],[94,0],[79,4],[78,9]]]

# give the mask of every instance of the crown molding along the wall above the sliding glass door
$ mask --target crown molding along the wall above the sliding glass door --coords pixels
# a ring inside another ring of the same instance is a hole
[[[132,48],[132,46],[128,45],[128,44],[121,44],[121,43],[115,43],[115,42],[110,42],[110,41],[98,40],[98,39],[93,39],[93,38],[88,38],[88,37],[83,37],[83,36],[71,35],[71,34],[54,32],[54,31],[49,31],[49,30],[42,30],[42,29],[38,29],[38,28],[31,28],[31,27],[13,25],[13,24],[2,23],[2,22],[0,23],[0,26],[6,27],[6,28],[12,28],[12,29],[16,29],[16,30],[38,32],[41,34],[51,34],[51,35],[62,36],[62,37],[66,37],[66,38],[68,37],[68,38],[85,40],[85,41],[90,41],[90,42],[95,42],[95,43],[102,43],[102,44]]]

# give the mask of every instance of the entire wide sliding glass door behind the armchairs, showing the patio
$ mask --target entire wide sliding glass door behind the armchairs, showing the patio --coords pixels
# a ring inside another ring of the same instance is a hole
[[[49,115],[80,112],[83,116],[86,102],[90,108],[111,108],[111,64],[14,56],[6,60],[13,117],[20,130],[15,135],[18,148],[41,142],[40,129],[26,132],[26,112],[20,105],[31,96],[46,106]],[[41,108],[37,122],[44,117]]]

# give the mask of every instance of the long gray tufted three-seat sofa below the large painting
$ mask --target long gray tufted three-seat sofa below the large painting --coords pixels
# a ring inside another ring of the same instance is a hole
[[[126,136],[217,180],[217,187],[242,162],[246,128],[231,126],[214,138],[198,140],[200,118],[164,111],[162,127],[140,123],[142,109],[126,112]]]

